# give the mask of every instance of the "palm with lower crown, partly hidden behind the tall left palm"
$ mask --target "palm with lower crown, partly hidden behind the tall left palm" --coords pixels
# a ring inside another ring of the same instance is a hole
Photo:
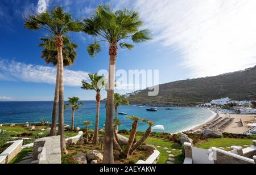
[[[57,73],[56,73],[56,84],[55,84],[55,95],[54,95],[54,101],[53,101],[53,109],[52,109],[52,125],[51,125],[51,131],[50,136],[56,135],[56,123],[57,123],[57,114],[58,114],[58,104],[59,104],[59,66],[58,66],[58,53],[56,48],[53,48],[53,50],[49,49],[51,46],[48,44],[51,42],[54,42],[52,38],[46,39],[42,38],[40,39],[42,41],[42,44],[39,44],[39,47],[43,47],[44,50],[42,50],[41,58],[46,61],[47,64],[52,63],[53,66],[57,67]],[[49,41],[52,40],[52,41]],[[63,65],[64,66],[70,66],[73,65],[75,62],[75,59],[77,57],[76,49],[77,45],[73,42],[70,42],[67,37],[63,37]]]

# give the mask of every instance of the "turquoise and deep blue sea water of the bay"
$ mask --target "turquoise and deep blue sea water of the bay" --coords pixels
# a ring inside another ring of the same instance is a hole
[[[82,126],[83,121],[95,121],[96,102],[83,101],[81,106],[75,113],[75,126]],[[174,110],[165,110],[163,107],[158,108],[158,112],[147,112],[146,109],[151,106],[120,106],[118,112],[125,112],[128,116],[138,116],[141,118],[151,119],[155,125],[164,125],[166,132],[177,133],[178,131],[191,129],[193,126],[200,125],[213,116],[208,109],[201,108],[172,108]],[[100,106],[100,129],[105,123],[105,104]],[[0,102],[0,123],[20,123],[20,122],[39,122],[40,118],[46,118],[51,122],[52,101],[26,101],[26,102]],[[71,124],[72,111],[71,108],[64,110],[65,124]],[[130,130],[130,119],[119,115],[122,126],[118,129]],[[93,124],[94,125],[94,124]],[[93,129],[93,126],[90,127]],[[145,123],[139,123],[138,130],[147,129]]]

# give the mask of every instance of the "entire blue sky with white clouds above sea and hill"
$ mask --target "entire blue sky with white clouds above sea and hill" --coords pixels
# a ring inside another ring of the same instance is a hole
[[[89,1],[47,0],[47,10],[61,6],[74,19],[87,18],[102,3],[115,10],[134,8],[154,40],[118,50],[117,70],[159,70],[159,83],[223,74],[256,64],[256,3],[252,1]],[[55,68],[40,58],[39,38],[45,31],[24,28],[28,11],[38,0],[0,1],[0,101],[53,100]],[[203,15],[202,15],[203,14]],[[108,45],[96,58],[86,46],[93,38],[70,33],[79,45],[76,63],[65,69],[65,99],[94,100],[93,91],[80,88],[86,72],[108,70]],[[118,91],[120,93],[130,92]],[[102,97],[105,97],[102,91]]]

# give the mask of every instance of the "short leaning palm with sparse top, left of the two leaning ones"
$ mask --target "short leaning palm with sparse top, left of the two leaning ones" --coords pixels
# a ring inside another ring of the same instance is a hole
[[[129,153],[130,153],[131,146],[134,143],[134,139],[135,139],[135,136],[137,133],[138,122],[141,121],[141,118],[136,117],[136,116],[130,116],[130,117],[126,117],[126,118],[133,120],[133,125],[131,126],[131,133],[130,133],[129,140],[128,140],[128,143],[126,146],[126,151],[125,151],[126,156],[128,157]]]

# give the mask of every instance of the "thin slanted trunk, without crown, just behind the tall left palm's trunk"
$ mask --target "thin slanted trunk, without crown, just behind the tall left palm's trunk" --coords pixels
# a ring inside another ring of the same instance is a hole
[[[58,115],[58,104],[59,104],[59,63],[57,62],[57,73],[56,73],[56,84],[55,84],[55,94],[53,101],[53,109],[52,109],[52,125],[50,136],[56,135],[56,123],[57,123],[57,115]]]

